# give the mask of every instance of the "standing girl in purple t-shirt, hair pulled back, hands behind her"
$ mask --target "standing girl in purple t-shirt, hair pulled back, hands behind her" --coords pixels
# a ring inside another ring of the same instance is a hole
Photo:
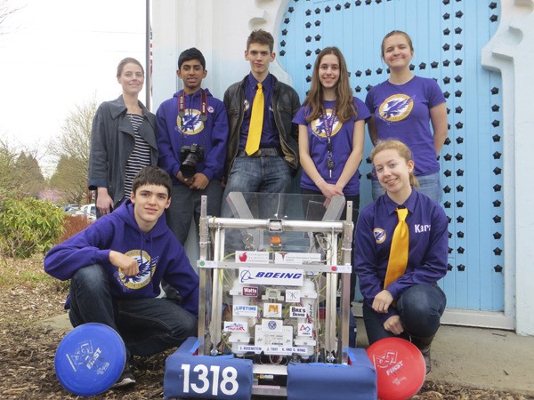
[[[440,87],[431,78],[414,76],[410,61],[414,48],[408,34],[393,30],[382,41],[382,59],[390,77],[368,92],[365,103],[371,111],[369,136],[377,140],[397,139],[408,145],[416,165],[420,192],[441,203],[440,154],[447,137],[447,107]],[[430,128],[432,124],[432,130]],[[373,199],[384,193],[373,180]]]

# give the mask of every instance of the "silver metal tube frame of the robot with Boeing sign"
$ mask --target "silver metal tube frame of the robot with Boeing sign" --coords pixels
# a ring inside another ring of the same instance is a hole
[[[335,262],[330,265],[351,264],[352,248],[352,202],[347,202],[346,219],[344,221],[304,221],[304,220],[257,220],[208,217],[206,214],[206,196],[202,196],[200,216],[200,261],[208,261],[209,232],[214,231],[214,261],[223,261],[226,228],[268,229],[273,231],[313,231],[326,234],[329,248],[326,251],[327,260]],[[343,237],[341,263],[338,260],[338,236]],[[234,267],[235,264],[235,267]],[[328,264],[328,263],[327,263]],[[286,266],[287,267],[287,266]],[[319,266],[298,265],[295,268],[310,268],[317,270]],[[224,267],[200,268],[200,304],[198,308],[198,354],[217,354],[217,345],[222,339],[222,304],[223,304],[223,274],[226,268],[239,268],[237,263],[225,262]],[[320,267],[319,267],[320,269]],[[341,278],[339,277],[341,275]],[[326,280],[326,309],[325,309],[325,346],[326,361],[328,363],[347,364],[348,336],[350,312],[350,274],[325,273]],[[339,281],[339,287],[338,287]],[[208,299],[208,286],[211,284],[211,304]],[[341,324],[336,332],[338,292],[341,295],[340,313]],[[209,313],[209,315],[208,315]],[[206,318],[209,318],[209,332],[205,332]],[[205,340],[208,338],[209,343]],[[207,348],[206,348],[207,346]]]

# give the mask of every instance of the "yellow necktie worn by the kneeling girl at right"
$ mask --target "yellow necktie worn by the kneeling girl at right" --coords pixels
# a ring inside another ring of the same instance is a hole
[[[392,249],[385,271],[384,289],[404,274],[408,266],[409,230],[406,224],[407,208],[398,208],[399,223],[393,231]]]

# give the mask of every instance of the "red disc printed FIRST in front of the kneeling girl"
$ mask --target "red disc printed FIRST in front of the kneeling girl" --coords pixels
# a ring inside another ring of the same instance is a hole
[[[376,369],[378,398],[405,400],[414,396],[425,382],[425,359],[408,340],[385,338],[367,348]]]

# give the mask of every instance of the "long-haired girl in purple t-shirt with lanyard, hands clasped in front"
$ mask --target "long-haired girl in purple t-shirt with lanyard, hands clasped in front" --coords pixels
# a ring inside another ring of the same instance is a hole
[[[356,225],[360,208],[360,172],[365,120],[364,102],[352,96],[349,74],[337,47],[323,49],[313,66],[312,87],[293,122],[299,124],[298,148],[303,166],[301,191],[352,201]],[[341,219],[344,220],[345,212]],[[351,300],[356,276],[352,276]],[[355,343],[354,343],[355,346]]]

